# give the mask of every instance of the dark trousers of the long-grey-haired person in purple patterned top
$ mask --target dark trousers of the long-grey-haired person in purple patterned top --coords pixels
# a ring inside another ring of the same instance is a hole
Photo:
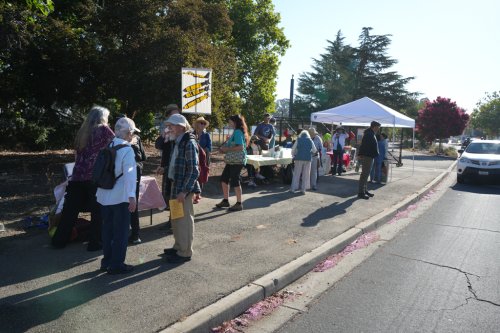
[[[101,241],[101,210],[96,201],[97,187],[91,181],[70,181],[66,187],[61,221],[52,237],[52,245],[58,248],[70,241],[71,231],[80,212],[91,213],[90,243]]]

